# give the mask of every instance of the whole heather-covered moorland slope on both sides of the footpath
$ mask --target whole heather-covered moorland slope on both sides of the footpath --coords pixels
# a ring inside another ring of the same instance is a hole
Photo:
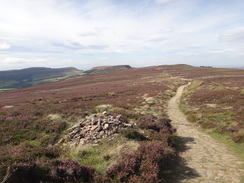
[[[179,100],[189,126],[222,134],[241,152],[243,78],[243,70],[167,65],[0,93],[0,180],[196,182],[202,176],[201,181],[208,182],[184,156],[193,152],[187,147],[200,147],[202,141],[184,142],[187,138],[173,118],[178,111],[168,115],[168,101],[191,82]],[[179,128],[178,137],[169,116]],[[195,130],[190,131],[194,135]],[[211,148],[209,137],[201,135],[206,148]],[[222,150],[218,143],[215,147]],[[191,154],[194,160],[198,157],[197,150]],[[233,167],[230,172],[239,168]]]

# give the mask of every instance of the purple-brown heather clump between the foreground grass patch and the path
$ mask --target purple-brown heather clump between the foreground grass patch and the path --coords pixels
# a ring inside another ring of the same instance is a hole
[[[124,153],[121,161],[112,165],[107,173],[119,182],[163,182],[164,174],[172,166],[172,156],[172,151],[165,146],[146,143],[136,151]]]

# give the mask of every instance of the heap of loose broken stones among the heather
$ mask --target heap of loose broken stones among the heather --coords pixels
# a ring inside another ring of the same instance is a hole
[[[133,124],[122,115],[113,116],[106,112],[93,114],[68,129],[69,133],[60,139],[58,144],[69,144],[70,146],[94,144],[101,139],[112,138],[120,129],[132,127]]]

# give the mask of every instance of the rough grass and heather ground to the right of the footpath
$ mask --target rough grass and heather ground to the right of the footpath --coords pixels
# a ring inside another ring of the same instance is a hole
[[[200,88],[188,87],[181,99],[181,109],[189,121],[237,143],[230,145],[236,152],[244,143],[243,84],[243,79],[226,76],[207,78]]]

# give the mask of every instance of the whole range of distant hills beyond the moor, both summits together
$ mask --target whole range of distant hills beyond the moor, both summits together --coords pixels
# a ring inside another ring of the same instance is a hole
[[[131,66],[129,65],[118,65],[94,67],[86,71],[81,71],[74,67],[60,69],[32,67],[21,70],[0,71],[0,92],[130,68]]]

